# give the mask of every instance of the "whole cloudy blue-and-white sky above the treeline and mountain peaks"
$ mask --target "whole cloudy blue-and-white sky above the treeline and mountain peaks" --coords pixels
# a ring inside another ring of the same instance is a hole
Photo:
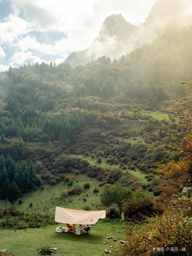
[[[86,49],[104,20],[121,13],[144,22],[157,0],[0,0],[0,71],[25,63],[63,62]]]

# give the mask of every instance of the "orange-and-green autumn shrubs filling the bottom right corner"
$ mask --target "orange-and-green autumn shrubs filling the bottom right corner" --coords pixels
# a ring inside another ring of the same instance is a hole
[[[128,226],[125,245],[121,247],[123,255],[156,255],[152,248],[169,248],[169,255],[177,252],[170,248],[181,249],[182,255],[191,255],[191,198],[181,197],[173,201],[173,206],[162,215],[148,219],[141,229]],[[185,248],[182,250],[182,248]],[[168,255],[168,254],[167,254]]]

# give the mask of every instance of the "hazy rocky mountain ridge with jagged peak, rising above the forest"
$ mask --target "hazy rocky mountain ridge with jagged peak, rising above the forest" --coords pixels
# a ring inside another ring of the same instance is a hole
[[[145,22],[139,26],[126,21],[122,14],[107,17],[93,43],[83,51],[70,53],[64,63],[69,63],[74,68],[103,55],[111,59],[120,58],[144,44],[151,43],[170,24],[190,24],[192,16],[186,12],[189,1],[176,0],[176,3],[177,5],[172,0],[159,0],[151,8]]]

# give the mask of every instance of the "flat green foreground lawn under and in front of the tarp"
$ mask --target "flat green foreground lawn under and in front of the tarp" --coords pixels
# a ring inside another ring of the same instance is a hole
[[[65,226],[57,224],[56,227]],[[55,255],[71,256],[101,256],[105,248],[110,250],[112,244],[116,248],[120,245],[120,240],[124,233],[125,224],[113,224],[107,222],[107,236],[114,236],[118,239],[105,238],[105,221],[101,220],[95,226],[91,226],[92,235],[75,235],[68,232],[55,233],[55,225],[41,228],[27,228],[25,230],[0,230],[0,249],[12,250],[16,256],[34,256],[41,246],[50,246],[60,249]],[[67,240],[67,241],[66,241]],[[106,245],[104,245],[106,242]]]

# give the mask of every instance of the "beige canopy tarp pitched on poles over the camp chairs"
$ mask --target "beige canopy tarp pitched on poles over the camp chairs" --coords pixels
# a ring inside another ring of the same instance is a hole
[[[81,211],[56,206],[55,222],[69,224],[95,224],[98,219],[104,219],[106,211]]]

